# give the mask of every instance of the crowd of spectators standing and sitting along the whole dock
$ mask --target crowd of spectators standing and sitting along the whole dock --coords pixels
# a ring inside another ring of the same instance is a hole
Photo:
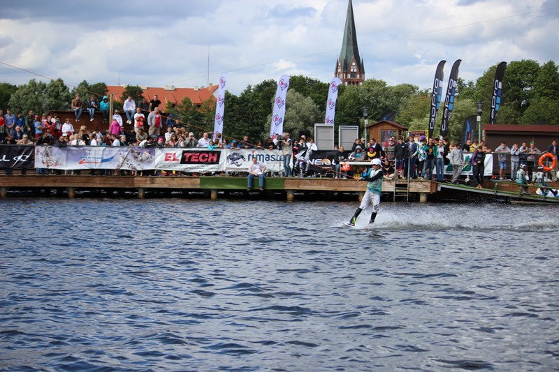
[[[33,111],[17,112],[10,109],[4,114],[0,110],[0,144],[37,144],[67,146],[139,146],[139,147],[182,147],[204,149],[268,149],[282,151],[284,156],[284,177],[298,174],[300,177],[324,173],[332,174],[335,178],[347,178],[359,174],[362,167],[342,168],[344,163],[366,164],[372,159],[380,158],[385,177],[396,179],[433,179],[436,181],[451,181],[458,183],[463,169],[471,166],[474,186],[481,187],[484,179],[484,161],[486,154],[497,154],[499,165],[499,179],[516,181],[518,173],[523,170],[532,179],[539,155],[549,152],[556,158],[559,154],[557,142],[553,141],[546,151],[540,151],[531,142],[522,142],[520,145],[511,144],[508,147],[502,142],[496,149],[490,149],[484,141],[467,140],[464,144],[449,142],[447,138],[432,137],[427,139],[424,135],[409,138],[390,137],[384,146],[375,138],[368,142],[356,139],[351,149],[334,147],[331,155],[331,165],[315,165],[312,154],[317,151],[312,137],[301,135],[298,140],[292,140],[289,133],[275,135],[265,141],[256,140],[256,144],[244,136],[242,140],[227,140],[217,133],[187,131],[180,119],[168,114],[164,116],[159,111],[161,101],[154,96],[152,101],[143,99],[138,105],[131,97],[123,104],[123,111],[114,110],[109,118],[108,98],[105,96],[97,102],[95,96],[90,96],[86,103],[82,103],[78,95],[75,96],[71,107],[75,116],[74,124],[71,119],[61,122],[56,114],[34,114]],[[94,113],[99,110],[103,121],[109,123],[106,131],[96,127],[88,131],[87,126],[78,122],[83,110],[89,112],[89,120],[94,120]],[[123,120],[122,114],[126,117]],[[110,119],[110,120],[109,120]],[[126,125],[125,125],[126,124]],[[128,129],[125,129],[128,128]],[[469,154],[469,156],[464,156]],[[466,159],[466,162],[464,162]],[[452,177],[444,177],[444,168],[452,164]],[[559,161],[557,162],[559,163]],[[293,164],[293,166],[291,166]],[[557,179],[557,167],[551,171],[553,181]],[[470,177],[466,177],[468,180]]]

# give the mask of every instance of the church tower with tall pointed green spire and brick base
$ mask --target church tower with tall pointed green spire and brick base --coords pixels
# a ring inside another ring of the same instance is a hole
[[[359,57],[354,7],[351,4],[351,0],[347,4],[342,51],[337,59],[334,75],[339,77],[342,83],[346,85],[361,85],[363,80],[365,80],[365,66],[363,65],[363,60]]]

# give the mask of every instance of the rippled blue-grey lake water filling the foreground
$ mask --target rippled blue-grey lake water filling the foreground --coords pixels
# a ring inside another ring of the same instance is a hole
[[[0,369],[559,368],[556,206],[0,206]]]

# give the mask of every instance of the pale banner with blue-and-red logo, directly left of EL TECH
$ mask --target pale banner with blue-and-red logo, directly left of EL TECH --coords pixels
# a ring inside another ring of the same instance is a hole
[[[35,147],[35,168],[82,169],[154,169],[154,148],[55,146]]]

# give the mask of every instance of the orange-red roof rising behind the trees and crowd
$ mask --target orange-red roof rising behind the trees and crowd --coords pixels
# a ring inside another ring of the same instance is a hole
[[[153,96],[157,95],[159,101],[161,101],[161,109],[165,110],[168,102],[177,105],[177,103],[182,102],[186,97],[190,98],[190,101],[197,107],[200,107],[204,101],[211,98],[213,101],[217,98],[217,85],[210,84],[210,87],[205,88],[177,88],[173,85],[167,85],[162,88],[154,87],[142,87],[143,96],[147,98],[147,101],[151,101]],[[108,94],[115,94],[115,100],[120,100],[122,97],[122,92],[124,91],[124,86],[121,85],[108,85]],[[138,103],[136,103],[138,104]]]

